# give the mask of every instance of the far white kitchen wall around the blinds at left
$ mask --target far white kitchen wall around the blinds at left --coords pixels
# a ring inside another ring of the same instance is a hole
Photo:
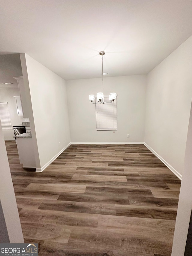
[[[16,82],[16,80],[15,80]],[[17,82],[16,82],[17,83]],[[13,96],[19,95],[18,88],[0,88],[0,102],[8,102],[10,119],[12,125],[19,125],[23,121],[23,116],[17,115],[17,106],[16,106],[16,99]],[[5,140],[13,140],[14,132],[13,130],[3,130],[4,139]]]

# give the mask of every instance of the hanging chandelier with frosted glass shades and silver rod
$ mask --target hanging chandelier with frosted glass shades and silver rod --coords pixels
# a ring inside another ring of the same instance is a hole
[[[105,55],[104,51],[101,51],[99,53],[99,55],[101,55],[101,60],[102,60],[102,85],[103,85],[103,56]],[[105,102],[104,101],[104,93],[102,92],[98,92],[97,93],[97,101],[95,100],[95,95],[91,94],[89,95],[89,100],[91,101],[91,103],[93,104],[105,104],[105,103],[112,103],[114,100],[116,99],[116,92],[111,92],[111,94],[109,95],[109,100],[110,102]],[[95,100],[95,102],[93,102]]]

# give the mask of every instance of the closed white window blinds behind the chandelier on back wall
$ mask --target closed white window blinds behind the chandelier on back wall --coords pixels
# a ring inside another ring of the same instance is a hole
[[[104,102],[110,102],[109,95],[104,96]],[[112,103],[95,104],[95,110],[97,131],[117,130],[117,98]]]

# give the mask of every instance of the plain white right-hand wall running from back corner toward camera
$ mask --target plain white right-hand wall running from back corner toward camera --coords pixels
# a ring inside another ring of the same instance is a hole
[[[192,99],[192,37],[147,76],[145,142],[181,175]]]

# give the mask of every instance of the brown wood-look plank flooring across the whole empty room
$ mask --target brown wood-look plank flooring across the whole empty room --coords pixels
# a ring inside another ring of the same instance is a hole
[[[25,242],[39,255],[170,256],[181,181],[144,145],[71,145],[42,173],[6,142]]]

